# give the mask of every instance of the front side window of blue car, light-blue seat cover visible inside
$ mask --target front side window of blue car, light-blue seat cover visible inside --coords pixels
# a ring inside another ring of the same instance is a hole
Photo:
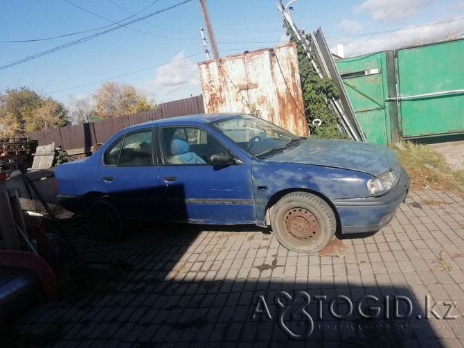
[[[207,164],[210,155],[226,150],[226,146],[200,128],[161,128],[163,164]]]

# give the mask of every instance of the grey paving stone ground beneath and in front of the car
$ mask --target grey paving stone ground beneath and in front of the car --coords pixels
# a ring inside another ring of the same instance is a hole
[[[118,243],[74,236],[85,259],[120,262],[127,277],[78,278],[0,347],[464,345],[456,193],[410,193],[382,231],[343,239],[344,259],[289,252],[256,227],[201,228],[157,226]]]

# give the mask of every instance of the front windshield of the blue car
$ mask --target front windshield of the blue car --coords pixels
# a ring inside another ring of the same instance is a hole
[[[209,123],[216,130],[256,157],[267,157],[303,139],[277,125],[251,115],[233,116]]]

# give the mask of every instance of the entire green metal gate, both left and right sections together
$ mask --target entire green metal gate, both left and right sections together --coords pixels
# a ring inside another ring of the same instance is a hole
[[[337,67],[368,142],[464,133],[464,40],[346,58]]]

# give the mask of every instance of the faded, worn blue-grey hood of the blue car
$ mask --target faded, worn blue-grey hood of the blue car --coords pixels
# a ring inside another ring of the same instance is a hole
[[[380,175],[390,168],[399,171],[393,150],[373,143],[337,139],[306,139],[269,158],[276,162],[314,164]]]

